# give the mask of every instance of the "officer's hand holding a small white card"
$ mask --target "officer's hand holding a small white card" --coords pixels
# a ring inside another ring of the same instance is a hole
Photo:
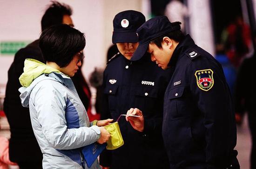
[[[126,116],[125,118],[126,118],[126,121],[130,122],[130,124],[135,130],[142,132],[144,130],[144,117],[141,110],[137,108],[135,109],[131,108],[130,110],[127,111],[127,115],[140,116],[140,117]]]

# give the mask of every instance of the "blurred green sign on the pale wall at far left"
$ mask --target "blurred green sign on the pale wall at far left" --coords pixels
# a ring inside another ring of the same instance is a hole
[[[28,43],[28,41],[1,41],[0,54],[14,55],[20,48],[25,47]]]

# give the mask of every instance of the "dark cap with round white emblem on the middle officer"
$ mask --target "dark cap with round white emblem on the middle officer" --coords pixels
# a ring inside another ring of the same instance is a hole
[[[112,42],[116,43],[137,43],[138,36],[136,30],[145,23],[145,16],[133,10],[117,13],[113,20],[113,36]]]

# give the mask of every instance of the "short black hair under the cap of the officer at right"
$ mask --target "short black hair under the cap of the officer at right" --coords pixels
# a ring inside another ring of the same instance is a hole
[[[157,47],[162,49],[162,42],[163,42],[164,37],[168,37],[170,39],[173,39],[175,42],[180,42],[184,39],[185,35],[181,30],[175,30],[175,31],[168,32],[164,35],[161,35],[161,36],[151,40],[150,43],[155,44],[155,45],[157,45]]]

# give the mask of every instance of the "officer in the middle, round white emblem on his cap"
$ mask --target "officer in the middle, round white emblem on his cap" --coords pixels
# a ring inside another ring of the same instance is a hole
[[[119,53],[104,71],[104,112],[101,118],[114,120],[130,108],[143,110],[144,128],[134,130],[121,117],[118,121],[124,145],[101,153],[100,164],[111,169],[166,169],[168,157],[162,140],[163,97],[170,78],[150,60],[148,54],[131,61],[138,46],[136,29],[145,22],[137,11],[123,11],[114,20],[112,41]],[[111,153],[110,155],[108,153]]]

